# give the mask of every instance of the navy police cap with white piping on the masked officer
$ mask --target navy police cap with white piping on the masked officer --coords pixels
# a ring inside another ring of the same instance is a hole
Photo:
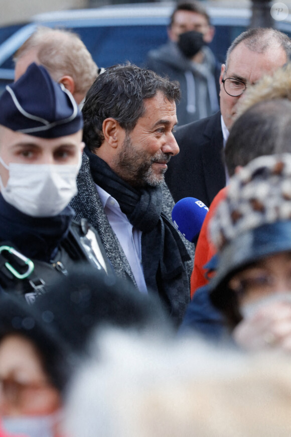
[[[72,94],[35,63],[0,97],[0,125],[41,138],[74,134],[83,127]]]

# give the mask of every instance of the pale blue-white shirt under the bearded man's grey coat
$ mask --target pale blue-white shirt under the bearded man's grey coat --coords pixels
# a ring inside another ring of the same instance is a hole
[[[141,231],[133,228],[129,223],[126,214],[124,214],[117,200],[110,196],[103,188],[96,184],[98,194],[101,199],[104,212],[107,215],[108,222],[113,229],[119,243],[125,253],[130,268],[132,270],[136,285],[142,293],[147,293],[145,284],[142,262],[141,262]]]

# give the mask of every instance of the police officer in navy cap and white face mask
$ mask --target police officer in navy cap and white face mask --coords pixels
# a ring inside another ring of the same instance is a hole
[[[72,95],[33,63],[0,108],[0,289],[34,301],[78,262],[110,273],[98,235],[68,206],[84,147]]]

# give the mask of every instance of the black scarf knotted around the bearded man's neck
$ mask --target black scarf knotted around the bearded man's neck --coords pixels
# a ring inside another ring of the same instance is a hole
[[[190,256],[175,227],[162,212],[162,187],[133,188],[87,148],[86,153],[94,182],[117,200],[131,225],[142,231],[145,283],[163,296],[177,316],[180,287],[189,288],[184,262],[190,260]]]

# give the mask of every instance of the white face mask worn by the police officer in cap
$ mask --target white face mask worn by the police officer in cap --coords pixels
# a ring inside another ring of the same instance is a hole
[[[16,164],[2,165],[9,170],[7,186],[0,177],[1,193],[5,200],[33,217],[52,217],[59,214],[77,194],[78,164]]]

